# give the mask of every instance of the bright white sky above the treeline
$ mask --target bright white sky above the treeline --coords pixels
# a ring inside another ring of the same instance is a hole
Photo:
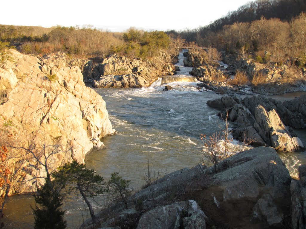
[[[2,1],[0,24],[52,27],[93,25],[113,32],[129,27],[184,30],[205,26],[248,0],[14,0]]]

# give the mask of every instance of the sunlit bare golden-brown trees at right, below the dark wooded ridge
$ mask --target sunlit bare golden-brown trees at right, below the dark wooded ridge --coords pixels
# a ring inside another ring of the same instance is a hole
[[[277,62],[285,61],[288,57],[304,55],[305,32],[306,13],[301,13],[290,22],[261,17],[252,22],[225,25],[222,30],[199,38],[198,43],[230,53],[237,52],[243,58],[247,58],[251,53],[263,58],[268,52]]]

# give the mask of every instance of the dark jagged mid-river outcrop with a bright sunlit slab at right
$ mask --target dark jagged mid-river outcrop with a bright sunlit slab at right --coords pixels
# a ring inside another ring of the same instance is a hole
[[[229,111],[228,118],[235,124],[233,135],[237,139],[252,141],[257,146],[272,146],[277,151],[300,151],[305,148],[303,143],[286,124],[304,128],[306,116],[298,113],[304,111],[303,101],[304,96],[286,102],[292,111],[280,101],[263,96],[245,97],[243,100],[237,96],[224,96],[209,100],[207,104]]]

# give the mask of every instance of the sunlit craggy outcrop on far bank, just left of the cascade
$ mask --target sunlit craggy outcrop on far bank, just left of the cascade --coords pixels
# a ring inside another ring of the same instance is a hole
[[[124,56],[111,55],[101,64],[85,66],[85,82],[92,82],[96,88],[140,88],[149,86],[159,75],[173,75],[170,64],[165,64],[167,56],[160,52],[155,60],[136,60]],[[90,70],[90,71],[89,71]]]

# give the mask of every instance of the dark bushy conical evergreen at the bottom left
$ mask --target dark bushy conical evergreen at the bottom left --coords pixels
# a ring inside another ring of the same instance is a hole
[[[35,217],[34,229],[66,228],[65,211],[61,208],[63,196],[60,191],[63,187],[63,184],[51,181],[48,176],[46,183],[37,189],[34,194],[35,209],[32,208]]]

